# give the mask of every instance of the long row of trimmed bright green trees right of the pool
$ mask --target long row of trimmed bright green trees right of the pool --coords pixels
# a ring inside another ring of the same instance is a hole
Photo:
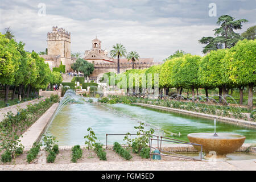
[[[145,73],[146,76],[151,73],[152,85],[154,85],[154,73],[158,73],[160,89],[176,88],[179,94],[183,89],[191,89],[192,98],[195,98],[195,89],[198,95],[198,89],[204,88],[208,97],[209,89],[218,88],[220,102],[223,102],[222,98],[226,98],[228,89],[239,88],[240,104],[242,104],[243,88],[248,86],[248,105],[252,108],[253,86],[256,82],[256,40],[240,40],[230,49],[210,51],[204,57],[184,54],[169,59],[162,65],[154,65],[143,70],[131,69],[115,77],[122,80],[120,79],[122,75],[126,75],[129,86],[130,73],[138,75]],[[139,79],[141,88],[143,78]]]

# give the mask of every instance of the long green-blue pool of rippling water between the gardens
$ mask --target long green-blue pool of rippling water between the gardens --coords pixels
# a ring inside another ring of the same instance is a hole
[[[106,134],[135,133],[138,122],[156,130],[157,135],[188,141],[187,134],[213,132],[212,119],[171,113],[143,106],[113,104],[71,104],[65,106],[49,125],[46,133],[57,138],[60,145],[84,144],[87,128],[92,127],[96,137],[106,144]],[[245,143],[256,143],[256,130],[217,121],[217,132],[236,133],[246,137]],[[108,144],[123,141],[124,136],[109,136]]]

